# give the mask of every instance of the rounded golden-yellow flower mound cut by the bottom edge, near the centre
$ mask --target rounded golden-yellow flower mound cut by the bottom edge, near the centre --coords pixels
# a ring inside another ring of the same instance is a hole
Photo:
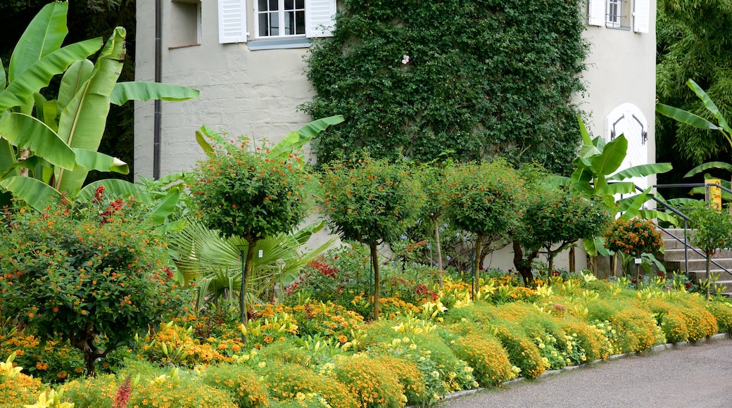
[[[363,408],[404,407],[407,397],[395,374],[366,355],[343,358],[335,377],[356,396]]]

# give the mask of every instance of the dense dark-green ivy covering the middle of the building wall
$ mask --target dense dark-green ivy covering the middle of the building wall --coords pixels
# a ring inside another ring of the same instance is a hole
[[[504,156],[568,173],[588,45],[576,0],[344,0],[315,42],[302,108],[346,122],[318,162],[367,147],[417,161]]]

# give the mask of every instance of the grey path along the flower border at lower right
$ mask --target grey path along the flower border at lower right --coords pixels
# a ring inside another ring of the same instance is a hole
[[[440,408],[732,407],[732,340],[628,356],[449,399]]]

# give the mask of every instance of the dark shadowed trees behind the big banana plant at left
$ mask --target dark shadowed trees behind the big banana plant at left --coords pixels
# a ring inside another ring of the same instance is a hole
[[[10,62],[10,55],[20,34],[30,21],[51,0],[7,0],[0,1],[0,15],[3,16],[3,41],[0,42],[0,58],[5,67]],[[92,37],[106,39],[116,26],[127,29],[127,54],[124,59],[119,81],[135,80],[135,0],[76,0],[70,1],[67,17],[69,34],[64,45],[83,41]],[[60,78],[49,86],[48,96],[56,95]],[[89,173],[87,183],[101,178],[124,178],[132,181],[133,163],[133,104],[122,106],[111,105],[107,117],[105,135],[99,151],[119,157],[130,167],[127,175],[119,173]]]

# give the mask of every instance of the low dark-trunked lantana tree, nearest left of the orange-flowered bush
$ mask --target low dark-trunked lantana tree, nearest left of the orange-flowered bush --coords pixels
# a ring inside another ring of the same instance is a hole
[[[540,187],[531,193],[520,227],[515,230],[513,263],[521,276],[531,274],[531,262],[544,249],[548,271],[557,254],[580,239],[600,235],[610,215],[599,197],[576,197],[566,189]]]

